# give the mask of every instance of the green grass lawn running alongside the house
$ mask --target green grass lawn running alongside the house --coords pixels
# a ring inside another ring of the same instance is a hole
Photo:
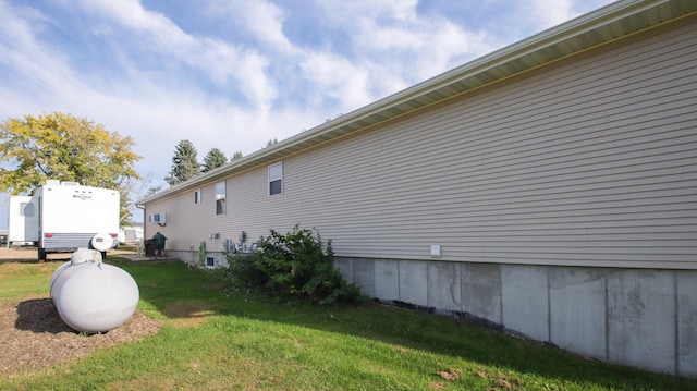
[[[695,390],[499,331],[376,303],[316,307],[231,289],[182,262],[109,258],[163,327],[77,363],[3,376],[5,390]],[[0,264],[0,303],[47,295],[60,264]],[[88,337],[86,337],[88,338]]]

